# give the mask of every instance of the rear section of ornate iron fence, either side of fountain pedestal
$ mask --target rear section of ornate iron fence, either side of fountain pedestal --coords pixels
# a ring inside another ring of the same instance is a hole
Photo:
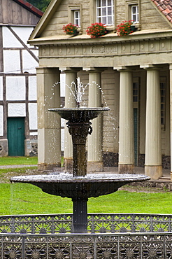
[[[72,214],[0,216],[0,233],[71,233]],[[172,232],[172,215],[88,214],[89,233]]]

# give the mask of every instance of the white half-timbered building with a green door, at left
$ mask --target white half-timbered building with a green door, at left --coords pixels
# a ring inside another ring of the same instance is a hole
[[[25,0],[0,0],[0,156],[37,152],[38,48],[27,39],[43,13]]]

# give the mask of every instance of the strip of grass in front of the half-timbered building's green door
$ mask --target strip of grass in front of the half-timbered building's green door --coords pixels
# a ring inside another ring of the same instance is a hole
[[[36,165],[38,164],[37,157],[2,157],[0,165]]]

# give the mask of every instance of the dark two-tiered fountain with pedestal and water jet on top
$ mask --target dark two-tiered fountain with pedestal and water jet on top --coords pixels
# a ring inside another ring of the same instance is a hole
[[[76,88],[76,108],[52,108],[49,111],[59,113],[67,120],[67,127],[73,141],[73,174],[50,173],[47,175],[15,176],[11,182],[31,183],[38,186],[45,193],[69,197],[73,201],[72,232],[87,232],[87,200],[89,197],[99,197],[114,193],[127,183],[146,181],[150,179],[144,175],[131,174],[87,174],[86,141],[87,135],[92,134],[90,120],[99,114],[109,111],[105,108],[80,107],[84,87],[78,78]]]

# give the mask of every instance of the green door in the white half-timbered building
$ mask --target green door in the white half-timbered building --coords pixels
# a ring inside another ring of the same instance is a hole
[[[8,155],[24,155],[24,118],[7,119]]]

